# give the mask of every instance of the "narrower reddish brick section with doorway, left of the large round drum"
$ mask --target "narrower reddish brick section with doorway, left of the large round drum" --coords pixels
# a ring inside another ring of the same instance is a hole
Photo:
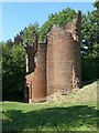
[[[37,52],[32,59],[35,64],[35,71],[26,75],[26,85],[29,86],[29,102],[45,101],[46,96],[46,44],[37,47]],[[31,63],[32,66],[33,63]]]

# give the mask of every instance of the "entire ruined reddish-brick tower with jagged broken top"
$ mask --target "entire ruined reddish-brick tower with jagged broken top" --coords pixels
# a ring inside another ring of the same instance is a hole
[[[46,42],[37,44],[36,40],[36,52],[33,47],[30,58],[33,71],[26,75],[30,102],[45,101],[56,92],[63,95],[80,88],[80,25],[79,12],[73,22],[53,25]]]

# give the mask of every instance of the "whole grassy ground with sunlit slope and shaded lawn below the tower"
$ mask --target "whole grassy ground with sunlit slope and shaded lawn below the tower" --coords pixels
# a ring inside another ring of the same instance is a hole
[[[2,102],[4,131],[97,131],[97,82],[55,102]]]

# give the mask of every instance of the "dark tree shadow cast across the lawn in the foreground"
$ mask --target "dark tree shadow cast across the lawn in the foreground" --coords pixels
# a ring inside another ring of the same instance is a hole
[[[3,131],[72,131],[85,126],[90,131],[97,127],[97,110],[92,106],[77,105],[68,108],[51,108],[24,112],[10,110],[3,112]]]

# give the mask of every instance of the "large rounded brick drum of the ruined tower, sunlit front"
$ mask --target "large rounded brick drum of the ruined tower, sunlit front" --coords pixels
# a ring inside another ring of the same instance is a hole
[[[53,35],[52,35],[53,34]],[[52,38],[51,45],[47,44],[47,85],[48,94],[61,92],[67,94],[73,89],[73,66],[75,60],[74,39],[72,33],[65,32],[59,27],[54,27],[48,35],[48,42]],[[51,51],[50,51],[51,49]],[[51,55],[53,58],[51,58]],[[53,59],[53,60],[52,60]],[[52,81],[52,82],[51,82]],[[52,88],[53,86],[53,88]]]

